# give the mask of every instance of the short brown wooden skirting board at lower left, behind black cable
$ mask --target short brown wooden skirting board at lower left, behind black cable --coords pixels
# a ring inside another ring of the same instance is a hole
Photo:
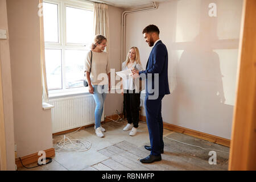
[[[55,148],[49,148],[49,149],[44,150],[44,151],[46,152],[46,157],[47,158],[51,158],[51,157],[55,156]],[[20,168],[20,167],[22,167],[22,164],[24,166],[26,166],[28,164],[38,162],[38,158],[40,158],[38,153],[34,153],[34,154],[30,154],[30,155],[27,155],[27,156],[24,156],[24,157],[20,158],[22,160],[22,163],[20,162],[19,158],[15,159],[15,163],[17,165],[17,168]]]

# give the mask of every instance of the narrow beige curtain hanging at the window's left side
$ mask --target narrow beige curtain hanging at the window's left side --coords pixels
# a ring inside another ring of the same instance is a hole
[[[46,60],[44,55],[44,19],[43,19],[43,0],[39,0],[40,11],[40,62],[41,62],[41,81],[42,81],[42,101],[48,103],[48,88],[46,80]]]

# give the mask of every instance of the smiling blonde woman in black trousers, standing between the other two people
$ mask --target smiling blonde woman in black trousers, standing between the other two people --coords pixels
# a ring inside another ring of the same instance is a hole
[[[122,64],[122,71],[126,69],[142,70],[141,60],[139,57],[139,49],[131,47],[127,53],[126,61]],[[136,78],[139,79],[139,78]],[[136,84],[137,83],[137,84]],[[141,90],[139,81],[134,77],[127,77],[122,80],[123,106],[128,120],[128,124],[123,128],[123,131],[130,131],[129,135],[134,136],[137,133],[139,123],[139,105],[141,104]]]

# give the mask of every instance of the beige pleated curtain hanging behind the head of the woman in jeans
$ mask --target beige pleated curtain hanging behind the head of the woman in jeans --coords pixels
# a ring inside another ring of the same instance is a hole
[[[94,3],[94,33],[104,35],[107,41],[106,52],[109,52],[109,13],[108,5]]]

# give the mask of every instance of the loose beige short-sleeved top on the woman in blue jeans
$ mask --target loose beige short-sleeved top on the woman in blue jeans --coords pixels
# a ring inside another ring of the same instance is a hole
[[[85,71],[90,72],[90,81],[92,85],[108,85],[108,75],[110,73],[108,53],[92,51],[92,69],[90,70],[90,51],[86,53]],[[105,74],[101,74],[105,73]],[[100,77],[98,78],[98,76]],[[101,77],[102,75],[102,77]],[[104,77],[103,77],[104,76]]]

